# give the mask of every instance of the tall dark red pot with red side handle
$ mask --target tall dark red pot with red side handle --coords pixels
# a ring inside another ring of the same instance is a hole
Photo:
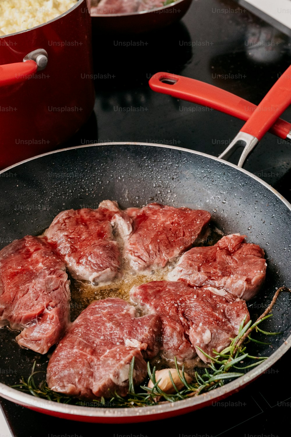
[[[38,49],[40,56],[27,57]],[[0,168],[72,136],[92,112],[92,77],[86,0],[47,23],[0,37]]]

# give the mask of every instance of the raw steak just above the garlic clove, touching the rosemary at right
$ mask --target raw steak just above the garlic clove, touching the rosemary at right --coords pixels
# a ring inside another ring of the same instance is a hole
[[[130,298],[146,312],[160,316],[164,354],[183,361],[213,356],[230,344],[240,323],[250,316],[246,303],[225,290],[192,288],[183,282],[153,281],[130,290]]]

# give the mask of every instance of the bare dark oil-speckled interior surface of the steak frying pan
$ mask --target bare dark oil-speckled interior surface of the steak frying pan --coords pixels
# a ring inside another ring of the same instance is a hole
[[[96,208],[104,199],[116,200],[121,208],[160,202],[206,209],[224,233],[246,234],[248,242],[265,250],[266,284],[248,304],[253,319],[270,303],[276,287],[291,286],[288,205],[257,178],[220,160],[178,148],[109,144],[50,153],[3,173],[1,248],[24,235],[40,234],[64,209]],[[261,346],[262,355],[271,355],[290,335],[290,302],[288,293],[279,297],[267,330],[283,334],[272,336],[270,346]],[[36,357],[38,369],[45,370],[48,362],[21,349],[14,337],[8,329],[0,330],[0,367],[11,369],[0,374],[6,385],[27,377]]]

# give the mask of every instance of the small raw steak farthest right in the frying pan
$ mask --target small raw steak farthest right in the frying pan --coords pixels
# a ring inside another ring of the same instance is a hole
[[[168,278],[189,285],[223,287],[248,301],[260,290],[266,276],[264,250],[245,243],[245,236],[227,235],[214,246],[193,247],[184,253]]]

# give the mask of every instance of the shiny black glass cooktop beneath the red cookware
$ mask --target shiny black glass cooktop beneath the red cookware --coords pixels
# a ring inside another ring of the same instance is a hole
[[[94,113],[63,146],[155,142],[218,156],[243,122],[154,93],[149,78],[158,71],[181,74],[258,104],[290,65],[291,38],[231,0],[193,0],[181,22],[151,34],[106,35],[94,29],[93,51]],[[282,118],[291,121],[291,108]],[[290,142],[267,134],[244,166],[289,201],[290,147]],[[152,437],[161,432],[177,437],[283,437],[291,422],[289,359],[291,351],[250,386],[215,405],[159,423],[78,423],[3,399],[0,403],[16,437]]]

